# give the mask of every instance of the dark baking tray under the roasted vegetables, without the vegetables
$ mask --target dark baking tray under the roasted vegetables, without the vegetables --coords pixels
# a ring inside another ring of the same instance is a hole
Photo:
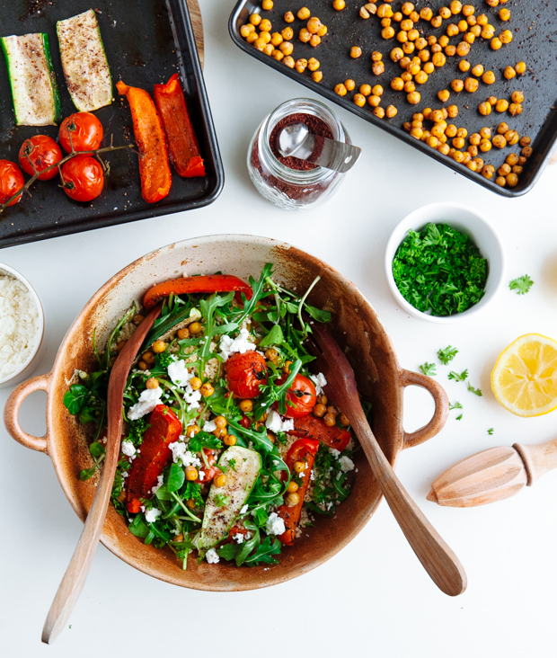
[[[115,151],[106,158],[111,175],[99,199],[76,203],[57,187],[57,179],[38,181],[31,188],[32,198],[0,214],[0,246],[199,208],[217,199],[222,189],[223,167],[186,0],[95,0],[94,4],[91,0],[0,0],[0,36],[49,34],[62,116],[66,117],[76,110],[60,64],[56,22],[92,7],[97,10],[115,93],[109,107],[95,112],[104,127],[102,146],[110,144],[111,136],[115,146],[133,141],[128,101],[116,90],[118,80],[153,93],[155,83],[166,82],[179,71],[208,175],[185,179],[172,171],[168,197],[148,204],[141,198],[137,155]],[[0,59],[0,158],[17,162],[26,138],[38,134],[57,138],[57,128],[15,127],[7,70],[4,58]]]

